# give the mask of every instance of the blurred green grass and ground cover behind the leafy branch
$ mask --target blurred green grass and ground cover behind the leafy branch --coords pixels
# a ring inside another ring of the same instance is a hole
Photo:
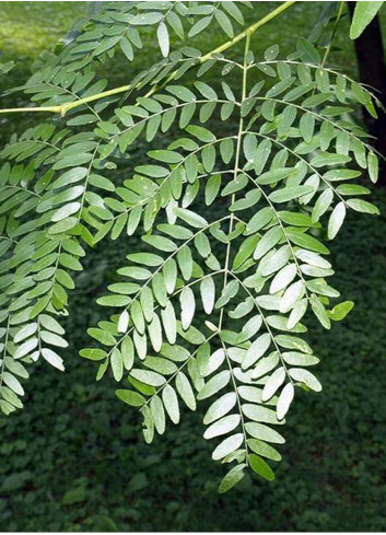
[[[254,3],[248,20],[274,4]],[[282,54],[291,53],[296,37],[312,32],[323,4],[297,2],[254,37],[255,51],[279,43]],[[86,2],[1,2],[0,61],[17,65],[0,89],[22,84],[38,55],[86,9]],[[385,15],[382,26],[386,34]],[[203,35],[197,46],[204,51],[223,40],[215,28]],[[329,62],[355,75],[347,19],[335,44]],[[151,35],[147,45],[155,54]],[[116,56],[108,66],[110,86],[127,83],[133,69],[153,60],[144,53],[132,68]],[[1,106],[23,100],[22,94],[2,97]],[[2,118],[0,144],[37,120]],[[385,531],[385,190],[374,188],[373,199],[382,216],[350,214],[331,246],[335,286],[355,309],[329,333],[307,324],[321,359],[323,393],[297,394],[276,481],[247,476],[222,497],[217,493],[222,467],[211,461],[200,414],[185,414],[180,426],[148,446],[139,415],[115,397],[114,381],[95,383],[95,365],[78,357],[86,328],[104,312],[92,303],[139,241],[134,236],[127,247],[110,242],[91,251],[67,321],[67,372],[36,368],[25,409],[0,420],[0,530]]]

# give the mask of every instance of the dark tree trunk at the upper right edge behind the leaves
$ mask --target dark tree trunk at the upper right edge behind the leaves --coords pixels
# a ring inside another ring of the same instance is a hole
[[[352,18],[356,2],[347,4]],[[374,93],[386,108],[386,66],[378,16],[354,40],[354,46],[361,82],[375,90]],[[363,119],[369,132],[376,138],[373,144],[386,158],[386,113],[378,109],[378,119],[374,119],[363,109]],[[385,162],[379,161],[379,184],[386,186]]]

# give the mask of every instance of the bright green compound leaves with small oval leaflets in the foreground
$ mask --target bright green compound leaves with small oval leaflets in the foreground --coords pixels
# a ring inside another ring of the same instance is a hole
[[[116,240],[127,263],[80,354],[98,362],[97,380],[114,375],[147,442],[202,402],[203,437],[230,466],[221,492],[248,466],[273,479],[277,426],[299,387],[321,389],[302,318],[329,329],[352,307],[327,282],[328,242],[348,210],[377,212],[356,184],[377,178],[353,118],[359,105],[376,116],[365,88],[303,38],[288,58],[277,45],[254,50],[258,24],[213,54],[190,46],[213,22],[233,37],[241,9],[248,2],[104,3],[22,88],[62,116],[12,137],[0,172],[1,410],[22,407],[34,362],[63,370],[74,274],[90,246]],[[106,92],[98,67],[120,49],[129,75],[148,28],[164,59]],[[169,32],[189,46],[171,53]],[[224,54],[237,42],[241,62]]]

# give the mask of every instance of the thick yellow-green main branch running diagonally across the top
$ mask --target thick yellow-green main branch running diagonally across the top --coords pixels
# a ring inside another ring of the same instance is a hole
[[[201,56],[200,58],[200,63],[203,63],[208,61],[209,59],[212,58],[213,55],[221,54],[224,50],[227,50],[231,48],[233,45],[236,43],[243,40],[246,36],[252,36],[259,27],[264,26],[268,22],[270,22],[272,19],[276,16],[280,15],[283,11],[286,9],[291,8],[292,4],[295,3],[296,0],[291,0],[289,2],[283,2],[279,8],[274,9],[270,13],[268,13],[266,16],[260,19],[259,21],[255,22],[250,26],[248,26],[244,32],[241,34],[236,35],[233,37],[233,39],[224,43],[223,45],[219,46],[218,48],[214,48],[214,50],[211,50],[210,53],[206,54],[204,56]],[[167,78],[167,82],[173,80],[174,77],[176,75],[177,71],[172,72],[172,74]],[[101,98],[105,98],[107,96],[114,96],[119,93],[126,93],[127,91],[130,91],[133,89],[131,84],[127,85],[120,85],[119,88],[115,88],[108,91],[103,91],[102,93],[96,93],[95,95],[86,96],[84,98],[80,98],[77,102],[65,102],[63,104],[59,104],[58,106],[42,106],[42,107],[16,107],[16,108],[5,108],[5,109],[0,109],[0,114],[11,114],[11,113],[22,113],[22,112],[27,112],[27,113],[34,113],[34,112],[47,112],[47,113],[52,113],[52,114],[60,114],[62,117],[69,112],[70,109],[77,108],[79,106],[82,106],[83,104],[87,104],[90,102],[98,101]],[[147,94],[147,96],[150,96],[150,94],[154,93],[155,88],[150,90],[150,92]]]

